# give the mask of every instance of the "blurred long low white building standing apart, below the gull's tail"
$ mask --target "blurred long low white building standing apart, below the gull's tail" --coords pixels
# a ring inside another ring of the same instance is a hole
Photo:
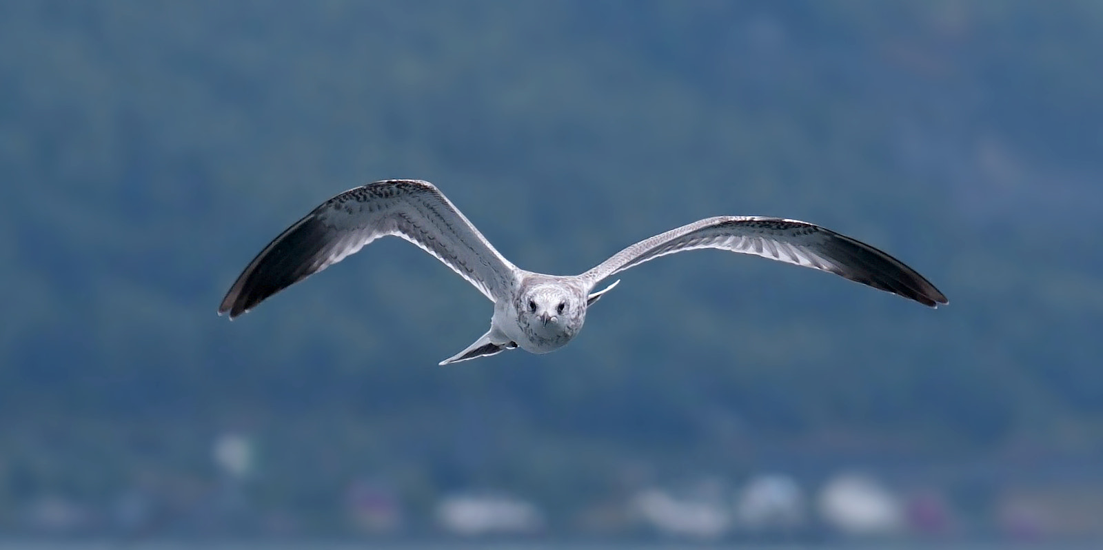
[[[442,498],[437,522],[447,532],[481,535],[535,535],[544,530],[544,513],[536,505],[499,493],[461,494]]]

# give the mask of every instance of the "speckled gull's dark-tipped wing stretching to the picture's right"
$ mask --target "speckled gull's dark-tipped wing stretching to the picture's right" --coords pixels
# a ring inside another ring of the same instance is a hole
[[[699,248],[718,248],[828,271],[923,305],[946,296],[900,260],[845,235],[795,219],[719,216],[694,222],[632,245],[578,276],[590,288],[647,260]]]

